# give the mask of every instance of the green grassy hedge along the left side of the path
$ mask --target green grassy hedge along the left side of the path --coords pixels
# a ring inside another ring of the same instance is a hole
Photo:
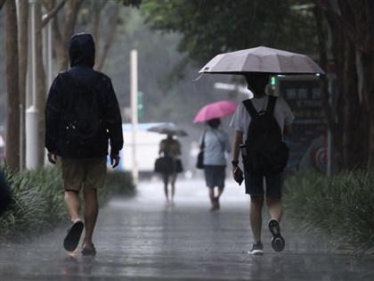
[[[61,169],[49,168],[20,173],[5,171],[5,175],[11,187],[12,203],[9,210],[0,217],[0,242],[10,238],[29,239],[51,231],[61,221],[69,221]],[[116,194],[128,196],[134,193],[130,174],[109,172],[105,188],[99,191],[99,200],[101,205],[104,205]]]

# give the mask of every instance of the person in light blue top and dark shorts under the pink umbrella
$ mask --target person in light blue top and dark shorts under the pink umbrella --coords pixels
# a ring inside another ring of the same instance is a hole
[[[207,129],[200,136],[200,149],[204,151],[204,174],[208,187],[209,199],[212,207],[210,211],[220,209],[219,198],[224,192],[224,180],[226,178],[226,155],[230,153],[232,146],[229,136],[219,128],[221,120],[207,121]],[[215,193],[215,187],[217,191]]]

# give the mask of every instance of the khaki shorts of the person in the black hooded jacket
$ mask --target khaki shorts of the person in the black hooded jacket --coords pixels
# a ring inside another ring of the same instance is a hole
[[[62,179],[65,190],[79,191],[85,188],[102,188],[107,175],[107,158],[61,159]]]

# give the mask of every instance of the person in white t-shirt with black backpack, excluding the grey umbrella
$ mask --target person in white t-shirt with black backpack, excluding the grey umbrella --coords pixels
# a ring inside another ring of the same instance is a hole
[[[249,222],[255,240],[248,253],[264,253],[261,240],[264,197],[270,214],[268,227],[272,234],[272,248],[280,252],[285,246],[280,233],[283,169],[289,154],[283,136],[291,135],[294,116],[283,98],[265,94],[269,74],[248,73],[245,78],[254,96],[240,103],[232,117],[230,126],[236,129],[232,174],[236,181],[242,180],[241,153],[246,194],[250,195]]]

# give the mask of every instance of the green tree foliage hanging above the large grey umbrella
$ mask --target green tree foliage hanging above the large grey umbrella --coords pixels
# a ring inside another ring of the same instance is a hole
[[[310,52],[313,15],[292,9],[297,1],[165,0],[142,1],[146,22],[153,29],[182,34],[180,52],[204,63],[215,54],[257,45]],[[297,40],[295,40],[297,38]]]

